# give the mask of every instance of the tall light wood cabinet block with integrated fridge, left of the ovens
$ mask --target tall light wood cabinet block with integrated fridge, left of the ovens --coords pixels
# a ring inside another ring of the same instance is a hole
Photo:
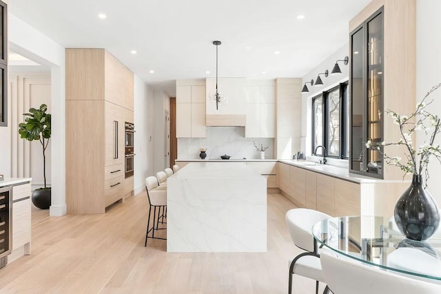
[[[133,123],[132,72],[103,49],[67,49],[68,213],[105,213],[133,187],[124,176],[125,121]]]

